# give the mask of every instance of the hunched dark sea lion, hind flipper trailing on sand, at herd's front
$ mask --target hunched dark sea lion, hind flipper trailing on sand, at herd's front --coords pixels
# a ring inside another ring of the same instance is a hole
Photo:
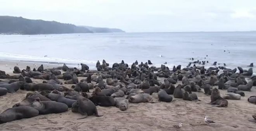
[[[80,113],[86,118],[87,116],[95,115],[97,117],[103,116],[99,115],[96,106],[87,98],[78,97],[78,100],[72,105],[72,112]],[[83,119],[78,118],[78,119]]]

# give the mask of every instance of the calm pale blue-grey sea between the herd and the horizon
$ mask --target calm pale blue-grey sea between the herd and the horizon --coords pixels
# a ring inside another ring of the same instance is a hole
[[[109,64],[124,60],[130,65],[135,60],[151,60],[156,67],[167,62],[166,66],[172,68],[187,66],[191,58],[208,60],[206,67],[216,61],[220,66],[225,63],[228,68],[248,69],[250,63],[256,64],[256,32],[0,35],[2,60],[70,66],[85,63],[95,69],[97,60],[103,59]]]

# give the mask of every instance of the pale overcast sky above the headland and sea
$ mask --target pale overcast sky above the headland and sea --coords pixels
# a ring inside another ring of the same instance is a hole
[[[0,0],[0,15],[126,32],[256,30],[256,0]]]

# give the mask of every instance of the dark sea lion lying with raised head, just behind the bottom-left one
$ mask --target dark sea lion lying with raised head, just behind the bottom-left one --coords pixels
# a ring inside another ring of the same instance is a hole
[[[56,101],[40,101],[40,98],[36,98],[36,100],[31,102],[28,106],[37,109],[39,114],[63,113],[68,109],[67,105],[64,103]]]

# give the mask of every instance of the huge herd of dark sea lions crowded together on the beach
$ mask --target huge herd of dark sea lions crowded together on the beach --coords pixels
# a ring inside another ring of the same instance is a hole
[[[197,62],[191,62],[197,63]],[[192,92],[203,92],[211,96],[210,104],[217,107],[227,107],[226,99],[239,100],[245,96],[244,91],[251,91],[256,86],[256,77],[253,69],[248,71],[241,67],[228,69],[226,67],[189,66],[181,69],[181,65],[169,69],[165,65],[161,67],[149,67],[150,60],[138,64],[137,60],[131,67],[123,60],[114,63],[112,67],[103,60],[96,64],[97,71],[89,70],[86,64],[81,64],[81,70],[69,68],[64,64],[62,67],[44,69],[43,65],[36,70],[29,66],[20,70],[15,66],[10,76],[0,71],[0,96],[7,92],[13,93],[19,89],[34,91],[29,92],[26,98],[0,114],[0,123],[14,121],[16,119],[31,118],[39,114],[62,113],[71,108],[72,112],[80,113],[86,118],[98,114],[96,106],[116,106],[125,111],[130,103],[154,102],[152,94],[157,93],[159,101],[171,102],[173,97],[187,101],[200,101]],[[216,65],[216,63],[215,63]],[[61,72],[64,71],[63,72]],[[63,74],[62,74],[63,73]],[[78,80],[78,77],[86,77]],[[157,77],[164,77],[164,83]],[[251,81],[247,82],[246,77]],[[30,79],[43,79],[43,83],[33,83]],[[68,88],[65,84],[72,84]],[[106,79],[106,81],[104,81]],[[182,81],[182,84],[178,84]],[[213,88],[213,86],[218,86]],[[90,89],[94,89],[89,94]],[[227,89],[227,94],[220,96],[219,89]],[[170,96],[170,95],[173,95]],[[256,96],[251,96],[248,101],[256,104]]]

